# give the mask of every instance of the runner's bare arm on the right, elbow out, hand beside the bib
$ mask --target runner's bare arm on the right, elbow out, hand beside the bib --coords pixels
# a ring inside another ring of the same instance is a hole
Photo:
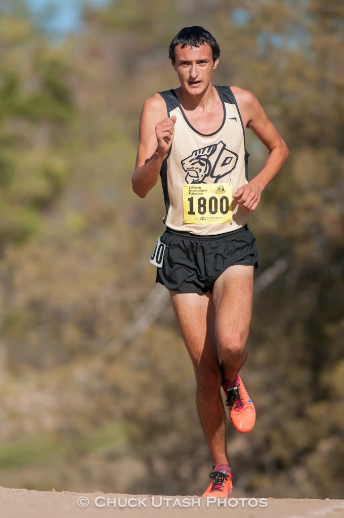
[[[269,121],[258,99],[248,90],[233,87],[245,125],[263,142],[269,150],[268,159],[262,170],[246,185],[233,194],[238,204],[252,212],[260,202],[261,193],[266,185],[277,175],[285,163],[289,151],[286,143]],[[234,93],[233,92],[233,93]]]

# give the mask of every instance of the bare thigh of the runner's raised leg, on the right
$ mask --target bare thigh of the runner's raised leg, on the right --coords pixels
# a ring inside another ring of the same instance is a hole
[[[216,336],[247,339],[252,315],[253,266],[233,265],[215,281]]]

